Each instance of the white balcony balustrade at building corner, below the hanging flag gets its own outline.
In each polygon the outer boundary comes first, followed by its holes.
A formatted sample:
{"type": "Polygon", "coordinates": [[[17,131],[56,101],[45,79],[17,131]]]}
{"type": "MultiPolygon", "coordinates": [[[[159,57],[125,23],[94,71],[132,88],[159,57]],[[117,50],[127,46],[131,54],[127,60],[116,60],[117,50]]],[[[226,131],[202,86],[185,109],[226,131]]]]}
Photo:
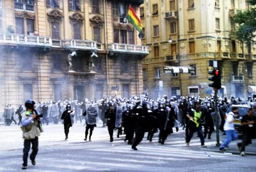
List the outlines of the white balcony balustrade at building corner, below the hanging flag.
{"type": "Polygon", "coordinates": [[[108,50],[114,52],[131,52],[139,54],[149,54],[148,47],[143,45],[131,45],[125,43],[109,43],[108,50]]]}

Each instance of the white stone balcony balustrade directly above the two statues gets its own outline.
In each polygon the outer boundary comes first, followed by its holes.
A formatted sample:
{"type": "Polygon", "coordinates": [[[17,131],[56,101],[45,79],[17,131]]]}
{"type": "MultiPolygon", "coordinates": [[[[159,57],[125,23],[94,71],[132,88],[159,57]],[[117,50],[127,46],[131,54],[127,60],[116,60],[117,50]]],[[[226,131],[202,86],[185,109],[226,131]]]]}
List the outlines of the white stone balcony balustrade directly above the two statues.
{"type": "Polygon", "coordinates": [[[62,47],[70,49],[97,50],[97,42],[90,40],[62,40],[62,47]]]}

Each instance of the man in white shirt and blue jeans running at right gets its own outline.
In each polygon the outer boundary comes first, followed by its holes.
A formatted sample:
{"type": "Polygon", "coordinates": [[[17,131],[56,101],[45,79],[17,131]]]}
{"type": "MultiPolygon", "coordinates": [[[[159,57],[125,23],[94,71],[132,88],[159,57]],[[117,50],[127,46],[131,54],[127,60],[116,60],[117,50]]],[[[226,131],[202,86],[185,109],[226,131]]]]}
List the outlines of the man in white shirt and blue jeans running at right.
{"type": "Polygon", "coordinates": [[[226,134],[226,139],[223,141],[223,143],[220,145],[220,150],[225,151],[228,144],[231,141],[234,141],[237,139],[236,130],[234,128],[234,121],[236,119],[236,116],[238,114],[238,107],[232,107],[232,111],[227,114],[227,118],[224,124],[224,130],[226,134]]]}

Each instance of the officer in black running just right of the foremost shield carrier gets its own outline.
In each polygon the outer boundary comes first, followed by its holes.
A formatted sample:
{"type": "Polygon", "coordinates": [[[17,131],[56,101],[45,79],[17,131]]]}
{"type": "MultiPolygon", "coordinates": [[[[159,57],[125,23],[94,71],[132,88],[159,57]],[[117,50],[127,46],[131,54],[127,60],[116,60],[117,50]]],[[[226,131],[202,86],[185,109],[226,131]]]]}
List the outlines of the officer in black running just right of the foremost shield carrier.
{"type": "Polygon", "coordinates": [[[112,103],[109,103],[109,109],[105,113],[105,118],[107,119],[110,142],[113,142],[113,132],[115,129],[115,121],[116,121],[116,109],[112,103]]]}

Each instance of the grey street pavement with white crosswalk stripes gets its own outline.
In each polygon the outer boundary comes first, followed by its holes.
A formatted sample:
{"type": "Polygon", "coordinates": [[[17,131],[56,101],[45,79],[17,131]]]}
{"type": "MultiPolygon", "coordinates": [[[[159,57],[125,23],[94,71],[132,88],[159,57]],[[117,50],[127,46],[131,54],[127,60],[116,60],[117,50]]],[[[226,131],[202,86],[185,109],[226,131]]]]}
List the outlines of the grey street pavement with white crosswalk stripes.
{"type": "MultiPolygon", "coordinates": [[[[184,130],[174,132],[165,145],[157,143],[155,134],[152,143],[143,139],[138,151],[124,142],[124,136],[109,142],[108,129],[98,124],[92,141],[84,141],[84,125],[75,123],[65,141],[63,125],[44,125],[39,137],[39,152],[36,166],[29,162],[25,171],[256,171],[256,143],[246,146],[246,156],[238,154],[232,141],[226,152],[215,146],[216,136],[205,139],[207,148],[200,147],[195,136],[189,147],[185,145],[184,130]]],[[[115,134],[116,135],[116,134],[115,134]]],[[[24,171],[22,164],[22,131],[17,125],[0,125],[0,171],[24,171]]],[[[147,135],[145,135],[146,138],[147,135]]],[[[220,140],[224,139],[220,133],[220,140]]]]}

